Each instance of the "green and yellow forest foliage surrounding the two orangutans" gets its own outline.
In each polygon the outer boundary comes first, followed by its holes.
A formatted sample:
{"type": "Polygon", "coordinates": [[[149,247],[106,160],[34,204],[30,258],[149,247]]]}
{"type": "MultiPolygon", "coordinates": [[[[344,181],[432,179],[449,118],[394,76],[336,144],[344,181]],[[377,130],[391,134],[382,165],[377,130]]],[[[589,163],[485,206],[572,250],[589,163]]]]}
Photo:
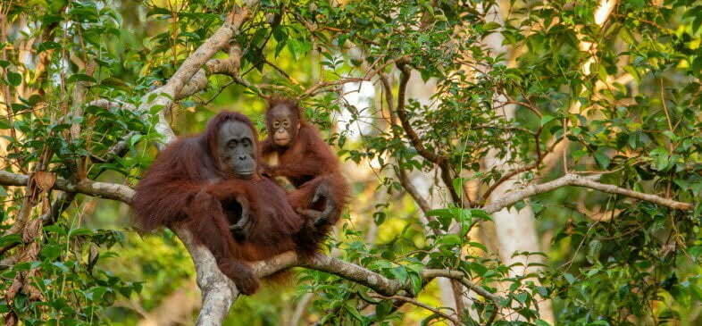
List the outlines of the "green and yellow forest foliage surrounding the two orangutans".
{"type": "MultiPolygon", "coordinates": [[[[153,113],[87,103],[138,104],[232,5],[3,0],[4,170],[136,184],[156,155],[153,113]],[[122,139],[128,146],[115,155],[122,139]]],[[[415,281],[423,267],[465,272],[503,297],[495,322],[495,306],[470,297],[465,324],[698,325],[700,25],[702,3],[689,0],[266,0],[235,39],[247,84],[210,76],[205,91],[166,114],[179,135],[203,130],[222,110],[246,113],[263,131],[259,92],[302,97],[305,116],[338,149],[354,191],[327,252],[414,282],[426,305],[455,308],[455,291],[415,281]],[[397,118],[403,67],[414,73],[406,76],[405,118],[397,118]],[[380,71],[389,88],[378,78],[359,82],[369,71],[380,71]],[[339,79],[359,80],[324,84],[339,79]],[[397,119],[409,121],[446,165],[422,157],[397,119]],[[513,214],[534,219],[507,220],[515,224],[509,238],[536,237],[538,246],[518,247],[527,258],[510,263],[508,241],[498,236],[504,225],[469,208],[506,196],[497,186],[521,166],[529,168],[514,173],[511,187],[574,171],[695,208],[558,188],[514,205],[513,214]],[[408,187],[431,211],[422,212],[408,187]],[[433,231],[451,225],[461,231],[433,231]]],[[[193,263],[170,230],[138,235],[129,207],[109,200],[0,192],[6,323],[194,322],[193,263]],[[12,232],[28,203],[36,207],[26,225],[43,224],[29,239],[12,232]],[[21,290],[18,278],[27,280],[21,290]]],[[[414,305],[396,311],[367,291],[299,270],[295,280],[239,298],[225,324],[446,322],[414,305]]]]}

